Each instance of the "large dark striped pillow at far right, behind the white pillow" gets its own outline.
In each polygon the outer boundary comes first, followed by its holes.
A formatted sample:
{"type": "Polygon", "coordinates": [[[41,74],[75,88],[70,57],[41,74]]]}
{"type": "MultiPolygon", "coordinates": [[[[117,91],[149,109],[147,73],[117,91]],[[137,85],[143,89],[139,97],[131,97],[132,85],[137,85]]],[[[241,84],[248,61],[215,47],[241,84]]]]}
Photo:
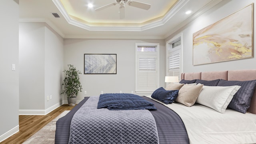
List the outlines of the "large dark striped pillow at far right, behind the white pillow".
{"type": "Polygon", "coordinates": [[[256,86],[256,80],[248,81],[228,81],[220,80],[218,86],[234,86],[238,85],[241,88],[236,92],[231,102],[228,104],[228,108],[232,108],[238,112],[246,113],[250,106],[251,98],[256,86]]]}

